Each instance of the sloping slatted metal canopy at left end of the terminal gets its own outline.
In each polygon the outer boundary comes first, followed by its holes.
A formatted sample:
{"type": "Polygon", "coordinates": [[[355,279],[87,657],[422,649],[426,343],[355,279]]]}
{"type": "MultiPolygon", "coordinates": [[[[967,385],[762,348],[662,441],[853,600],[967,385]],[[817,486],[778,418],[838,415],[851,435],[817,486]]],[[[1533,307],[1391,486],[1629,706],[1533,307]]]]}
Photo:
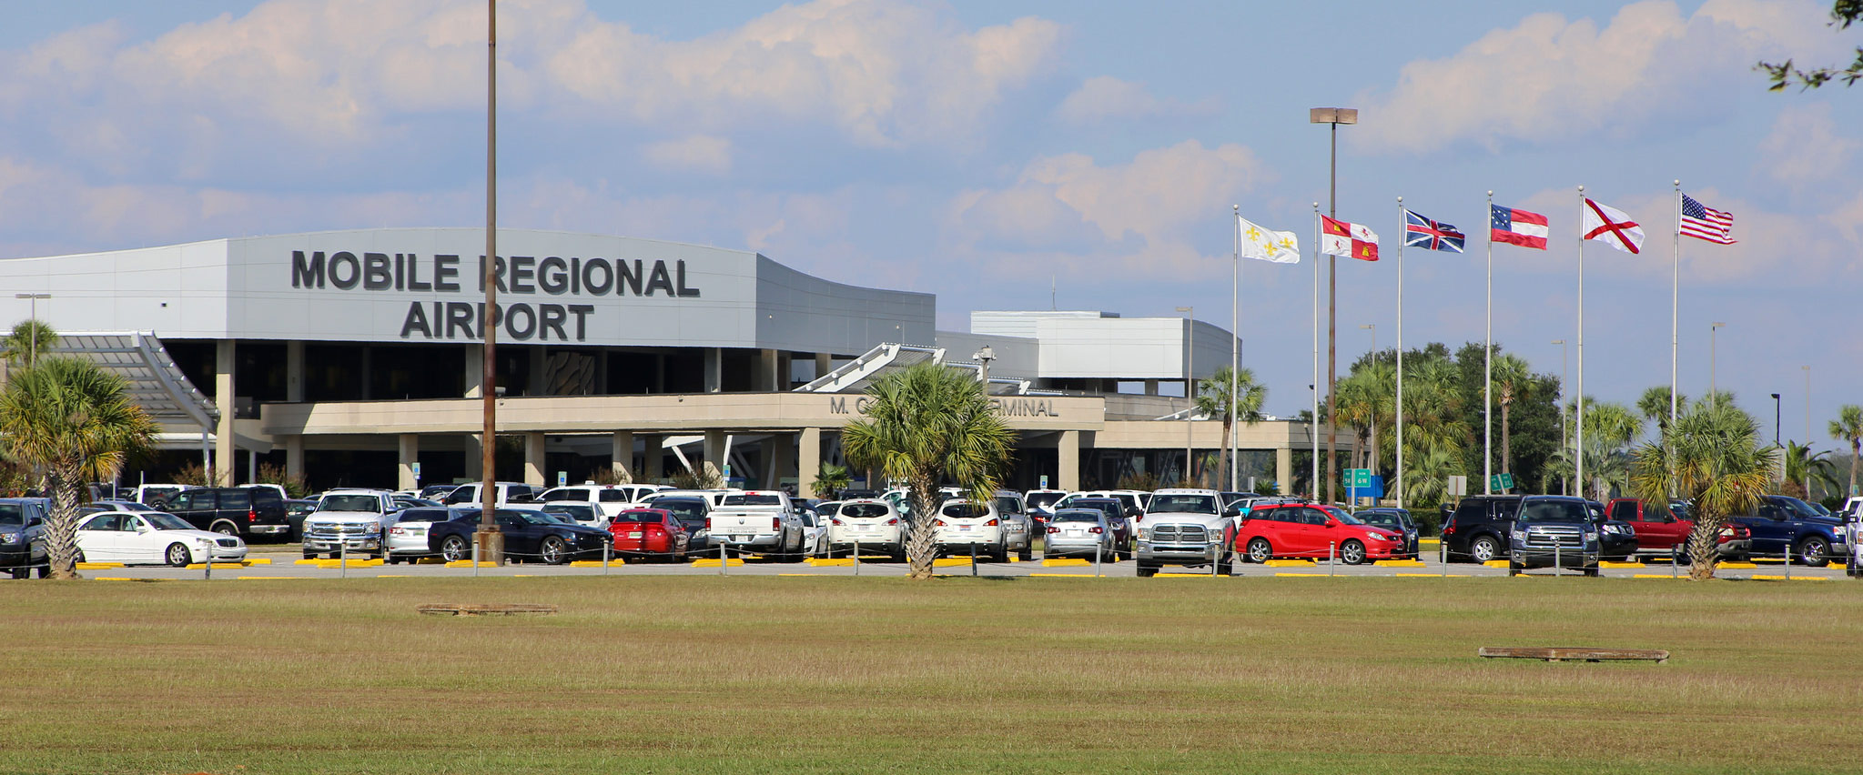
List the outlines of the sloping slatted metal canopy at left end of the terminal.
{"type": "Polygon", "coordinates": [[[212,432],[220,421],[220,408],[188,382],[153,332],[60,333],[45,352],[88,360],[123,378],[130,399],[156,423],[212,432]]]}

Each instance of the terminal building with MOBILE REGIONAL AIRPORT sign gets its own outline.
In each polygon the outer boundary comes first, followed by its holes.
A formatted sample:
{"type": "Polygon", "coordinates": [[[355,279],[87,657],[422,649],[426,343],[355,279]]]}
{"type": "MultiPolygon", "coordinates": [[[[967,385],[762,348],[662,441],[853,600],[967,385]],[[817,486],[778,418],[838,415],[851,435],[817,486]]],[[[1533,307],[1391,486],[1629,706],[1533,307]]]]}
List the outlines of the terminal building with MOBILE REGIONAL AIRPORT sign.
{"type": "MultiPolygon", "coordinates": [[[[1176,481],[1222,423],[1161,384],[1207,378],[1231,333],[1177,317],[976,311],[935,330],[932,294],[844,285],[755,252],[499,229],[499,479],[635,479],[715,466],[809,492],[838,428],[891,369],[939,361],[989,380],[1019,434],[1010,486],[1176,481]],[[978,361],[976,354],[993,354],[978,361]],[[1122,391],[1122,388],[1125,391],[1122,391]]],[[[34,311],[54,352],[123,374],[160,423],[160,481],[268,462],[313,488],[477,479],[484,229],[354,229],[0,261],[6,320],[34,311]],[[34,298],[37,296],[37,298],[34,298]]],[[[1237,428],[1243,477],[1287,492],[1299,421],[1237,428]]],[[[1215,466],[1209,466],[1211,469],[1215,466]]],[[[863,471],[855,471],[859,479],[863,471]]],[[[1211,471],[1213,473],[1213,471],[1211,471]]]]}

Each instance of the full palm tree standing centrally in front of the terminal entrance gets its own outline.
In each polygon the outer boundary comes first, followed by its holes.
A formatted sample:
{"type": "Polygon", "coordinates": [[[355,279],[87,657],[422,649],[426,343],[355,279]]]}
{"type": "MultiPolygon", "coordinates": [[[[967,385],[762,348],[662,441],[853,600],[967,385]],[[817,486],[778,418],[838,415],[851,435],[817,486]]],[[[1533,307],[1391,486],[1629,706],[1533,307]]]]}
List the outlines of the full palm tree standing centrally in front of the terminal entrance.
{"type": "Polygon", "coordinates": [[[932,514],[937,484],[950,479],[978,499],[997,488],[1010,466],[1015,434],[989,408],[974,376],[939,363],[917,363],[866,388],[864,419],[842,430],[842,449],[855,466],[905,481],[913,529],[905,540],[911,578],[932,578],[932,514]]]}

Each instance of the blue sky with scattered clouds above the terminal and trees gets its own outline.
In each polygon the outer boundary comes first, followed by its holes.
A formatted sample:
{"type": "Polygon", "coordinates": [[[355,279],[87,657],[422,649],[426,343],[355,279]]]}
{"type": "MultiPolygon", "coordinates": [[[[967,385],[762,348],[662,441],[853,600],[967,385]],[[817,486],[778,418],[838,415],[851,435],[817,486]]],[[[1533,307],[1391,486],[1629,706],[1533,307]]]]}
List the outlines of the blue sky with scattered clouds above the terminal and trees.
{"type": "MultiPolygon", "coordinates": [[[[63,2],[0,30],[0,255],[483,220],[479,0],[63,2]]],[[[1485,192],[1552,218],[1500,246],[1496,341],[1576,343],[1574,186],[1645,224],[1585,252],[1585,388],[1667,382],[1673,179],[1733,211],[1684,240],[1682,391],[1718,384],[1803,438],[1859,402],[1863,93],[1764,91],[1762,58],[1848,61],[1815,2],[501,4],[501,225],[753,248],[971,309],[1228,326],[1230,205],[1310,240],[1326,130],[1339,216],[1386,261],[1339,266],[1339,360],[1395,341],[1395,197],[1470,253],[1407,253],[1405,339],[1481,339],[1485,192]],[[1852,129],[1846,129],[1852,127],[1852,129]]],[[[1312,266],[1244,266],[1246,365],[1306,404],[1312,266]]],[[[1576,348],[1572,374],[1576,376],[1576,348]]]]}

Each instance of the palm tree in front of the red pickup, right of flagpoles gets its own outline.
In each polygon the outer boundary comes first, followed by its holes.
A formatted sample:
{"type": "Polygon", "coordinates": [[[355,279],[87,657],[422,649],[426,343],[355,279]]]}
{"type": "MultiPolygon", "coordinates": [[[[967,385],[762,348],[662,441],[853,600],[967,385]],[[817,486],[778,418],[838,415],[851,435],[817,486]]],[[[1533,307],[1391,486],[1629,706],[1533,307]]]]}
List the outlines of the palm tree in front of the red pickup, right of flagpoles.
{"type": "Polygon", "coordinates": [[[1733,402],[1701,401],[1677,417],[1666,438],[1636,451],[1630,488],[1645,501],[1671,492],[1695,505],[1688,537],[1692,579],[1712,579],[1716,544],[1727,514],[1755,507],[1772,483],[1779,447],[1761,445],[1759,423],[1733,402]]]}

